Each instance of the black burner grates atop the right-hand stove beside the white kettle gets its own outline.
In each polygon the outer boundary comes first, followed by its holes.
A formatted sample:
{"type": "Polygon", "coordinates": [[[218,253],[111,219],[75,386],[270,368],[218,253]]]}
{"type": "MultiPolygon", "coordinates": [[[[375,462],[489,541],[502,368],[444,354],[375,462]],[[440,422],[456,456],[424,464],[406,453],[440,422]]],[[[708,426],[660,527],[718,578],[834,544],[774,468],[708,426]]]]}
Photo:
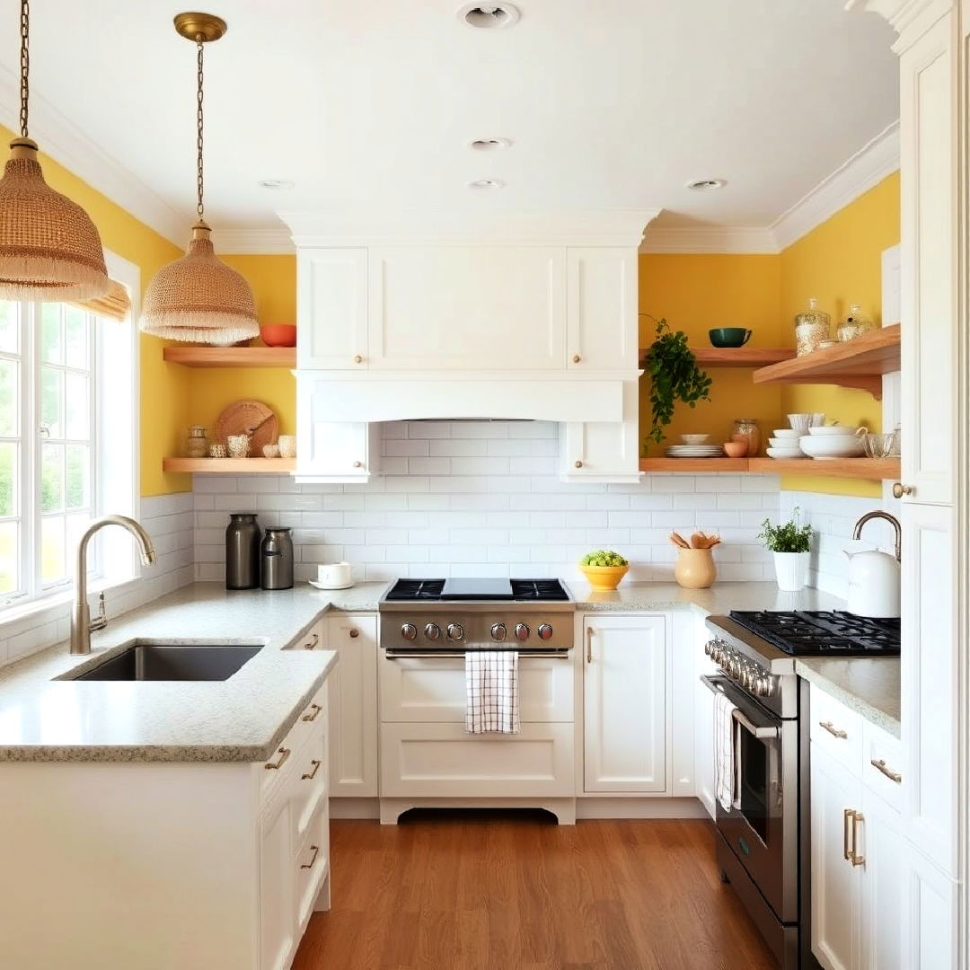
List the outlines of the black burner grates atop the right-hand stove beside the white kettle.
{"type": "Polygon", "coordinates": [[[731,610],[737,624],[792,656],[894,657],[899,621],[855,616],[842,610],[771,612],[731,610]]]}

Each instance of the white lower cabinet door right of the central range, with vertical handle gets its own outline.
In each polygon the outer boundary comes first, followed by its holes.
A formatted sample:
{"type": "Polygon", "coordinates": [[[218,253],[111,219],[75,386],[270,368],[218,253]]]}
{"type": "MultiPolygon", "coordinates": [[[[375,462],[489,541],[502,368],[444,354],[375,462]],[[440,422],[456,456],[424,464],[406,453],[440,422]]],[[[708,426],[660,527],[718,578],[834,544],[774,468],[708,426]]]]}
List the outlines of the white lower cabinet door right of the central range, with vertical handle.
{"type": "Polygon", "coordinates": [[[664,792],[667,620],[584,617],[584,790],[664,792]]]}

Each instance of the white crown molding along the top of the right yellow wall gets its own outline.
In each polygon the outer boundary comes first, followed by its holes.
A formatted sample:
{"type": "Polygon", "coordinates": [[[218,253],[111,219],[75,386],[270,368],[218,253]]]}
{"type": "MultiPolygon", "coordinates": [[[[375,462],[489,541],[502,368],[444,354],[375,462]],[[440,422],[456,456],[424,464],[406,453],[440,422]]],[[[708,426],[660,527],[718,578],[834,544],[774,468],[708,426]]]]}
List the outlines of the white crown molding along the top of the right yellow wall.
{"type": "Polygon", "coordinates": [[[899,169],[899,122],[893,121],[845,164],[768,227],[777,250],[787,248],[899,169]]]}

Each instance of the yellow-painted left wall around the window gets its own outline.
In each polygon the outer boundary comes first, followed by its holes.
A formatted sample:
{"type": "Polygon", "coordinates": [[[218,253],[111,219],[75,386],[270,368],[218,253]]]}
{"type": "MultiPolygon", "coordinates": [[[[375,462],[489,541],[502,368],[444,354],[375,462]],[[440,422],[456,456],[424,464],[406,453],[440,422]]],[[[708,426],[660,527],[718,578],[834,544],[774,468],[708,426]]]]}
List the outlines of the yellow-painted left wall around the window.
{"type": "MultiPolygon", "coordinates": [[[[0,126],[0,138],[5,143],[13,137],[10,129],[0,126]]],[[[41,165],[50,187],[74,200],[91,217],[102,244],[139,267],[143,293],[152,275],[181,255],[178,246],[43,152],[41,165]]],[[[190,214],[186,212],[186,238],[190,214]]],[[[188,423],[188,377],[162,361],[161,340],[143,334],[140,349],[142,495],[181,492],[191,487],[188,475],[163,474],[162,456],[178,454],[178,438],[184,435],[188,423]]]]}

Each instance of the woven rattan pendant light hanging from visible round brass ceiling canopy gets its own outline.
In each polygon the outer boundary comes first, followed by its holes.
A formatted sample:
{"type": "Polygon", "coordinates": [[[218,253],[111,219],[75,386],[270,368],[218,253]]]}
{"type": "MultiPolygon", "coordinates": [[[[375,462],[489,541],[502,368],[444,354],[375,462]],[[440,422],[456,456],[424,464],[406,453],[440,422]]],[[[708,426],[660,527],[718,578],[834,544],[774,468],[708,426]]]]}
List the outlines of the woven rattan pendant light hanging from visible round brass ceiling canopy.
{"type": "Polygon", "coordinates": [[[203,51],[226,32],[226,22],[211,14],[179,14],[178,34],[196,46],[196,211],[188,250],[162,267],[148,284],[141,329],[146,334],[190,343],[229,344],[256,337],[256,303],[242,275],[226,266],[210,241],[203,218],[203,51]]]}

